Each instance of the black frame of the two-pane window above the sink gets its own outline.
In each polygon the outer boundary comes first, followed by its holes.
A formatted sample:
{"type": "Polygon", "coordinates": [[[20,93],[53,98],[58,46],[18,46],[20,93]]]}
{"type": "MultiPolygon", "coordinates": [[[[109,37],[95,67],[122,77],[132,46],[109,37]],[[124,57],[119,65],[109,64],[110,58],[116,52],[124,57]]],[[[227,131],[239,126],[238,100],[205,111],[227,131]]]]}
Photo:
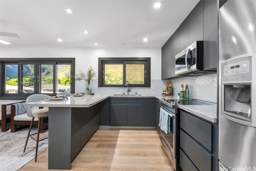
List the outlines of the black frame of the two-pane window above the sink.
{"type": "MultiPolygon", "coordinates": [[[[144,84],[129,84],[129,87],[150,87],[150,58],[99,58],[98,87],[126,87],[126,64],[144,64],[144,84]],[[104,82],[104,64],[123,64],[123,84],[106,85],[104,82]]],[[[129,80],[128,80],[129,81],[129,80]]]]}

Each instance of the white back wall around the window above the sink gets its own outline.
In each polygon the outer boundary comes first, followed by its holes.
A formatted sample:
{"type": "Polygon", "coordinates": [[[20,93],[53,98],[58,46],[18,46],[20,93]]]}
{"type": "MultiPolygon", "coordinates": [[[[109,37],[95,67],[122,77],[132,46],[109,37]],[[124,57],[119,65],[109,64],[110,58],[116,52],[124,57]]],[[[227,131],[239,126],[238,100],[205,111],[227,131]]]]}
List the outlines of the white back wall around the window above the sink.
{"type": "MultiPolygon", "coordinates": [[[[87,72],[92,68],[97,72],[96,78],[92,80],[93,92],[121,93],[124,88],[99,88],[98,89],[98,58],[104,57],[150,57],[151,58],[151,85],[156,85],[156,90],[150,88],[132,88],[132,92],[148,94],[160,94],[164,84],[161,81],[161,48],[5,48],[1,49],[1,58],[76,58],[76,73],[81,69],[87,72]]],[[[83,91],[85,83],[76,82],[75,91],[83,91]]]]}

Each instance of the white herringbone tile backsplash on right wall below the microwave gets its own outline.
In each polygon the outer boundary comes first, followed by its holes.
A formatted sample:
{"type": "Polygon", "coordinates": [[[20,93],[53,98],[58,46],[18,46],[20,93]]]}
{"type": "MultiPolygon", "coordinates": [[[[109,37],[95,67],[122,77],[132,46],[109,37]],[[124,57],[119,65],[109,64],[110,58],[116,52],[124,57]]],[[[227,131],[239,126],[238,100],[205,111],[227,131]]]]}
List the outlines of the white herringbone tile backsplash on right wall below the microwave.
{"type": "Polygon", "coordinates": [[[190,98],[217,103],[217,74],[177,78],[164,82],[172,82],[174,95],[182,90],[181,84],[184,84],[184,88],[188,84],[190,98]]]}

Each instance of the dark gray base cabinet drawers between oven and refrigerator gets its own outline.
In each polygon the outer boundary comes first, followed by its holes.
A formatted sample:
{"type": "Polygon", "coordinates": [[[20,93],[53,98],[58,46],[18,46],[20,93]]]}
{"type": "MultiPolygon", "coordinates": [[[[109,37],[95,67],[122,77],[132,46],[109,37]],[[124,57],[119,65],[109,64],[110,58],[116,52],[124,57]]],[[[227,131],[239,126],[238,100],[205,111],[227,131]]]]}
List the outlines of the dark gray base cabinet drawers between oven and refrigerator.
{"type": "Polygon", "coordinates": [[[183,171],[213,169],[213,124],[180,110],[180,167],[183,171]]]}

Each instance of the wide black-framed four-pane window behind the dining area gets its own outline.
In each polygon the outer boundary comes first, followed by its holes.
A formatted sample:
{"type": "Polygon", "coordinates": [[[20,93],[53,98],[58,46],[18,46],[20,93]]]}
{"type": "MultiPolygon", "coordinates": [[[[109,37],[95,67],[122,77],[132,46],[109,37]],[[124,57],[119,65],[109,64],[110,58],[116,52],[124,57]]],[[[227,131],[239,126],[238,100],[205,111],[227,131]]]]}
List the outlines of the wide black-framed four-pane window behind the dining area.
{"type": "Polygon", "coordinates": [[[74,93],[74,58],[2,58],[0,62],[1,97],[74,93]]]}

